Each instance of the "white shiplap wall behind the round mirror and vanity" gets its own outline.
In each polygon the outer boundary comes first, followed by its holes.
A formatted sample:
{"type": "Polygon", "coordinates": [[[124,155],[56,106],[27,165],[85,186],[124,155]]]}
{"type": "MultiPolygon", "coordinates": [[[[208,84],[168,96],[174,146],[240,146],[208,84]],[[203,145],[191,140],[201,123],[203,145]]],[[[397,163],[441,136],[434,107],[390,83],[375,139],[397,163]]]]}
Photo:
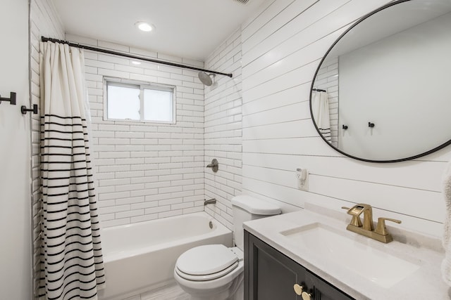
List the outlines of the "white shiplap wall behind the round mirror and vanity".
{"type": "Polygon", "coordinates": [[[309,115],[323,53],[352,22],[387,2],[267,1],[242,25],[242,193],[278,202],[283,211],[305,202],[337,211],[369,203],[375,218],[440,237],[440,178],[450,147],[409,162],[359,162],[326,145],[309,115]],[[299,167],[309,169],[308,192],[296,188],[299,167]]]}

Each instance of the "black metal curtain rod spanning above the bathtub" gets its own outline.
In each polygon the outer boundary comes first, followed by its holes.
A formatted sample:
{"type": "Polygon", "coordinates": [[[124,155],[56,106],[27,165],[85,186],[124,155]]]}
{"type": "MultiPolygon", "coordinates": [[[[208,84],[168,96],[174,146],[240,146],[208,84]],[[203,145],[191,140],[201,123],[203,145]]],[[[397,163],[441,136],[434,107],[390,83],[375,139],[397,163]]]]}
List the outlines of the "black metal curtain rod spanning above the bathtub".
{"type": "Polygon", "coordinates": [[[97,47],[92,47],[92,46],[84,46],[84,45],[80,45],[80,44],[75,44],[75,43],[71,43],[70,41],[63,41],[61,39],[52,39],[52,38],[49,38],[49,37],[41,37],[41,40],[42,41],[51,41],[53,43],[68,44],[69,46],[72,46],[72,47],[77,47],[77,48],[82,48],[82,49],[86,49],[86,50],[90,50],[90,51],[97,51],[97,52],[101,52],[101,53],[111,54],[113,56],[123,56],[123,57],[126,57],[126,58],[133,58],[133,59],[137,59],[137,60],[145,60],[145,61],[148,61],[150,63],[160,63],[162,65],[171,65],[172,67],[181,67],[183,69],[190,69],[190,70],[208,72],[208,73],[211,73],[211,74],[218,74],[218,75],[228,76],[230,78],[233,77],[233,75],[231,73],[221,73],[221,72],[201,69],[199,67],[191,67],[190,65],[180,65],[178,63],[171,63],[171,62],[168,62],[168,61],[165,61],[165,60],[156,60],[156,59],[153,59],[153,58],[144,58],[142,56],[134,56],[134,55],[128,54],[128,53],[116,52],[116,51],[111,51],[111,50],[97,48],[97,47]]]}

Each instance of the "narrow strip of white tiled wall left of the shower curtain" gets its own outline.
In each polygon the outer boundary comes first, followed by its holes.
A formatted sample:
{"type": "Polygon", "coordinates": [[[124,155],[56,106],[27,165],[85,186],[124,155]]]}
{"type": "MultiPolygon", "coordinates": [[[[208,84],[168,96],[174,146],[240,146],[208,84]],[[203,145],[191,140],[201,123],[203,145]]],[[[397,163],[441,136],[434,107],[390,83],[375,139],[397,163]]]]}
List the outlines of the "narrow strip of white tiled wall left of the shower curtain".
{"type": "MultiPolygon", "coordinates": [[[[41,36],[54,37],[56,39],[64,38],[64,29],[61,20],[54,8],[51,0],[32,0],[30,1],[30,97],[32,104],[39,105],[40,101],[40,83],[39,83],[39,41],[41,36]]],[[[39,110],[38,110],[39,112],[39,110]]],[[[32,214],[33,214],[33,291],[35,297],[39,288],[39,270],[41,240],[39,233],[41,230],[41,204],[39,202],[40,187],[40,126],[39,114],[32,115],[31,123],[32,140],[32,214]]]]}

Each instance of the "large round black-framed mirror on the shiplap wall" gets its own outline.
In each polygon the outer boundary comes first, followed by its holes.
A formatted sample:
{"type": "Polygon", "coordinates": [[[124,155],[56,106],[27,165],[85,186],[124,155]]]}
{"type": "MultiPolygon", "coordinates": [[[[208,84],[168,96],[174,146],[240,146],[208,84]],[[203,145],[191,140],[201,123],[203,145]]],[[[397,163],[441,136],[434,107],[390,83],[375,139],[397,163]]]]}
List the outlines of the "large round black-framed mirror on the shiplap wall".
{"type": "Polygon", "coordinates": [[[400,162],[451,143],[451,0],[394,1],[365,15],[316,70],[310,112],[328,145],[400,162]]]}

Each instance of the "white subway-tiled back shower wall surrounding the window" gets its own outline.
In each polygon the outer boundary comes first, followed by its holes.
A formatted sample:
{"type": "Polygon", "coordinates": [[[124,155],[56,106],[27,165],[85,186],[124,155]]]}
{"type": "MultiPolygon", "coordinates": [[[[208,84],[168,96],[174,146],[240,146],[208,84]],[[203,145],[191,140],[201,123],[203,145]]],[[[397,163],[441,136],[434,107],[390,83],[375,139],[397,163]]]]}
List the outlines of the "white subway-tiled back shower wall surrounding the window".
{"type": "MultiPolygon", "coordinates": [[[[204,67],[129,46],[66,34],[66,39],[114,51],[204,67]]],[[[85,51],[92,144],[101,226],[203,211],[204,85],[197,72],[85,51]],[[176,124],[104,119],[104,77],[175,86],[176,124]]]]}

